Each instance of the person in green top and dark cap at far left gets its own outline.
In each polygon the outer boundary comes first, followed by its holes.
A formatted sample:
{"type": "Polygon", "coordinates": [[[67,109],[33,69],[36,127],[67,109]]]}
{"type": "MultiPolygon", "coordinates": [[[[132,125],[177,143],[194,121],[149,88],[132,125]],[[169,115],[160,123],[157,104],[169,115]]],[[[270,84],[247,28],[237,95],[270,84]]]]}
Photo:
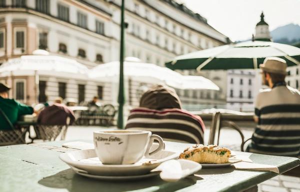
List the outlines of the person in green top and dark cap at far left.
{"type": "MultiPolygon", "coordinates": [[[[7,85],[0,83],[0,108],[13,125],[20,116],[32,114],[33,108],[21,104],[14,99],[8,99],[9,89],[10,87],[7,85]]],[[[0,130],[7,129],[10,129],[10,127],[4,117],[0,114],[0,130]]]]}

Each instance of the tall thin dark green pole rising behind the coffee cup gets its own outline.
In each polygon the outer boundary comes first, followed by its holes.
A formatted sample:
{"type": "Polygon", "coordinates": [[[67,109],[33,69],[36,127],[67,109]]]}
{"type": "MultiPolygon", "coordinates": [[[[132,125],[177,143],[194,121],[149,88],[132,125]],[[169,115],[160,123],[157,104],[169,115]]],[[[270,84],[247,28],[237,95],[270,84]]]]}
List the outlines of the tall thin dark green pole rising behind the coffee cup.
{"type": "Polygon", "coordinates": [[[123,121],[123,106],[124,98],[124,76],[123,76],[123,62],[124,62],[124,0],[121,4],[121,35],[120,35],[120,75],[119,75],[119,93],[118,93],[118,114],[117,114],[117,128],[124,128],[123,121]]]}

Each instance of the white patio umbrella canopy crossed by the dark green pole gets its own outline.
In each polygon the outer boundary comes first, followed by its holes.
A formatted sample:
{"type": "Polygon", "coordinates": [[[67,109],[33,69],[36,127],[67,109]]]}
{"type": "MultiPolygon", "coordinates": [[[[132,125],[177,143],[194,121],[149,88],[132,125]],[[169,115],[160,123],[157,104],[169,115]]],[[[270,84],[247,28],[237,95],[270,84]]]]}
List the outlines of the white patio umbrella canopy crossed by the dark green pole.
{"type": "MultiPolygon", "coordinates": [[[[102,81],[118,81],[119,61],[100,64],[90,70],[89,78],[102,81]]],[[[209,79],[201,76],[184,76],[166,67],[152,63],[142,63],[138,58],[126,57],[124,76],[136,78],[149,83],[164,83],[177,89],[211,89],[219,90],[209,79]]]]}

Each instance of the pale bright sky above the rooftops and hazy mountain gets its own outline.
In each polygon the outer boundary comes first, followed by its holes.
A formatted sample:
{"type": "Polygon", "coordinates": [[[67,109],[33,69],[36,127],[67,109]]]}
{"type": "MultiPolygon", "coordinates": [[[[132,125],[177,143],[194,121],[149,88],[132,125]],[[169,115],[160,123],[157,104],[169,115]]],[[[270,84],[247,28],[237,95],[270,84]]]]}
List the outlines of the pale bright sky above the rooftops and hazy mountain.
{"type": "Polygon", "coordinates": [[[255,34],[263,11],[270,31],[285,24],[300,25],[300,0],[178,0],[207,19],[208,24],[231,41],[255,34]]]}

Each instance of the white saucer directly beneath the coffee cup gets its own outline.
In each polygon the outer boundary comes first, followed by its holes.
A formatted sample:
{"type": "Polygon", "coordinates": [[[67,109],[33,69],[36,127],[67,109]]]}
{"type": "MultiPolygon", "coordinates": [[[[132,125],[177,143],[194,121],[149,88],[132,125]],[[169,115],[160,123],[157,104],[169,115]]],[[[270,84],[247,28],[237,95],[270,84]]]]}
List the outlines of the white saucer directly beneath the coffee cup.
{"type": "Polygon", "coordinates": [[[87,172],[93,176],[141,176],[155,169],[162,162],[178,159],[179,153],[161,150],[150,156],[151,159],[143,158],[135,164],[130,165],[103,165],[96,156],[95,150],[79,150],[59,155],[61,161],[71,168],[87,172]]]}

